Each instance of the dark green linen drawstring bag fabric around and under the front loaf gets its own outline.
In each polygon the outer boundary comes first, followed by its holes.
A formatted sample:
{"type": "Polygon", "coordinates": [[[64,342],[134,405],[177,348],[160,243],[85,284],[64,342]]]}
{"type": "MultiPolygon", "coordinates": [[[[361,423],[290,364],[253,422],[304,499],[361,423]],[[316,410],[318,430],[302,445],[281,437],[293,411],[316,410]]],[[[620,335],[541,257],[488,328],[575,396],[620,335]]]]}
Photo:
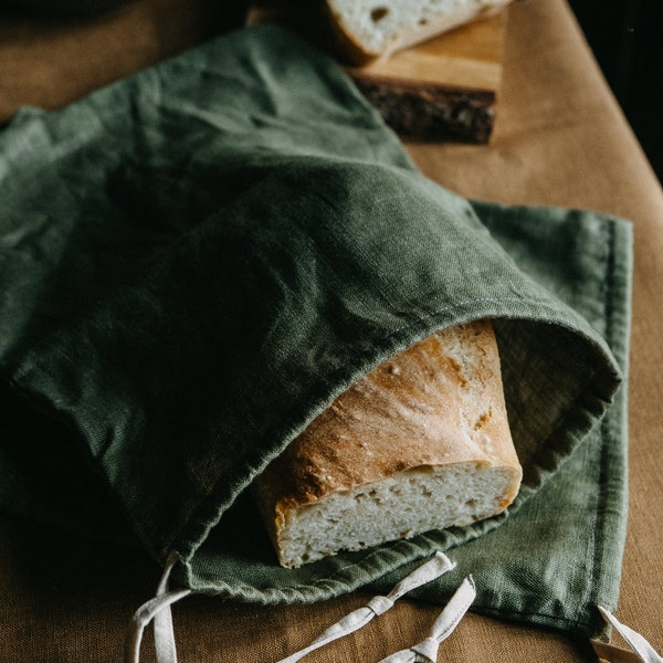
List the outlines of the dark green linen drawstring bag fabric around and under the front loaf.
{"type": "Polygon", "coordinates": [[[380,587],[444,549],[477,610],[600,630],[625,523],[627,222],[443,189],[274,27],[22,110],[0,200],[6,511],[108,538],[122,512],[180,582],[262,603],[380,587]],[[524,466],[508,513],[280,568],[252,478],[352,380],[486,317],[524,466]],[[54,432],[34,441],[30,411],[54,432]]]}

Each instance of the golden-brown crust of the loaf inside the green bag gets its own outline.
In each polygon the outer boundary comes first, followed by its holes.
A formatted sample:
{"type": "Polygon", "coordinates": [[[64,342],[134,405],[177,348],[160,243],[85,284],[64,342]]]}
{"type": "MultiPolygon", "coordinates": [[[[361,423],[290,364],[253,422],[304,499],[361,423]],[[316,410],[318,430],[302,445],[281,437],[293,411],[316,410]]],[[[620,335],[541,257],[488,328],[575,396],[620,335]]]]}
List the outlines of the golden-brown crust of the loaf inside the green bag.
{"type": "Polygon", "coordinates": [[[413,469],[522,469],[504,402],[497,343],[487,320],[439,332],[357,380],[254,483],[278,551],[290,516],[328,495],[413,469]]]}

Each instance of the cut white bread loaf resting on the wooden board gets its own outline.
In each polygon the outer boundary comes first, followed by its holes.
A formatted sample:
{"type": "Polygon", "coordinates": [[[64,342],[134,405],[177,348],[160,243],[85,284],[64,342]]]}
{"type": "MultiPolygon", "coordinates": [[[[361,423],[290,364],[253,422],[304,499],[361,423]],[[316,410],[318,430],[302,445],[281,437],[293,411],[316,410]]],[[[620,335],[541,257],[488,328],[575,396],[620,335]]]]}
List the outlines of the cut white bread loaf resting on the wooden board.
{"type": "Polygon", "coordinates": [[[495,14],[511,0],[326,0],[344,55],[355,64],[388,57],[459,25],[495,14]]]}

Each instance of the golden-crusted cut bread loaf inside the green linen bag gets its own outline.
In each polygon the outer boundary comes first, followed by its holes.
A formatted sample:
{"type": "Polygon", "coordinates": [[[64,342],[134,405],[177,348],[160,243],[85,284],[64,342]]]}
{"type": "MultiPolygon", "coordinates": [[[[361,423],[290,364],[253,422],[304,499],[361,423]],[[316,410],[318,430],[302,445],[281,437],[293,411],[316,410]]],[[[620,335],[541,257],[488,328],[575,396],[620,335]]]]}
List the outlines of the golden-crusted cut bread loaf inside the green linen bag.
{"type": "Polygon", "coordinates": [[[490,322],[433,334],[319,414],[254,482],[283,566],[493,516],[518,492],[490,322]]]}

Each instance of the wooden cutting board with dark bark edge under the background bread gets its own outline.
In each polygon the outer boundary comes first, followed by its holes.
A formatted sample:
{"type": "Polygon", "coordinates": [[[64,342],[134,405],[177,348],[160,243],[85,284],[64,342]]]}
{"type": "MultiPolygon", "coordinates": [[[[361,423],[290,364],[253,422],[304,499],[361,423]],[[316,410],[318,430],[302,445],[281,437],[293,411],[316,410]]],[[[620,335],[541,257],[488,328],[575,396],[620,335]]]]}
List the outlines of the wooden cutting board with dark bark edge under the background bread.
{"type": "MultiPolygon", "coordinates": [[[[264,7],[249,22],[275,20],[329,49],[314,2],[303,11],[264,7]]],[[[292,3],[290,3],[292,7],[292,3]]],[[[487,143],[496,119],[507,11],[401,51],[383,62],[347,66],[387,124],[419,140],[487,143]]]]}

